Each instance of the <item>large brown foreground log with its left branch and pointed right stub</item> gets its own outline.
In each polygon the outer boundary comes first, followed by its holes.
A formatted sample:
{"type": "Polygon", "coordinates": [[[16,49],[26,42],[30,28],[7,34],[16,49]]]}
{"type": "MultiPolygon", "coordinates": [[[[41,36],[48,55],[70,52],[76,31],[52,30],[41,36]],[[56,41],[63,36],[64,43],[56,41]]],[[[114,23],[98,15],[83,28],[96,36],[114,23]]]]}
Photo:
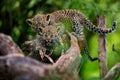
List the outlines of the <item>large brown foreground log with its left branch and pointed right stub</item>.
{"type": "Polygon", "coordinates": [[[76,37],[54,64],[25,57],[14,41],[0,34],[0,80],[79,80],[81,55],[76,37]]]}

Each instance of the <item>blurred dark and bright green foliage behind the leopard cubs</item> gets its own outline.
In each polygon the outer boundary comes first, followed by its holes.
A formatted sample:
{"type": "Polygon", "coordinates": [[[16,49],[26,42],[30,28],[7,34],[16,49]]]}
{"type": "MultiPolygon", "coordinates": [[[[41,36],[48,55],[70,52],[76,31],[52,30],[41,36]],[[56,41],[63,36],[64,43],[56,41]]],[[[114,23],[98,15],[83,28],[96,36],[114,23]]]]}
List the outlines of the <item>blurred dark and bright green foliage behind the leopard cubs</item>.
{"type": "MultiPolygon", "coordinates": [[[[106,16],[107,27],[118,22],[114,33],[107,35],[108,68],[120,62],[120,53],[112,51],[115,44],[120,49],[120,0],[0,0],[0,32],[12,36],[21,47],[24,41],[35,38],[36,32],[26,23],[36,13],[50,13],[62,9],[77,9],[95,25],[96,16],[106,16]]],[[[89,52],[98,56],[98,36],[85,29],[89,52]]],[[[99,80],[98,61],[91,62],[82,53],[79,75],[81,80],[99,80]]]]}

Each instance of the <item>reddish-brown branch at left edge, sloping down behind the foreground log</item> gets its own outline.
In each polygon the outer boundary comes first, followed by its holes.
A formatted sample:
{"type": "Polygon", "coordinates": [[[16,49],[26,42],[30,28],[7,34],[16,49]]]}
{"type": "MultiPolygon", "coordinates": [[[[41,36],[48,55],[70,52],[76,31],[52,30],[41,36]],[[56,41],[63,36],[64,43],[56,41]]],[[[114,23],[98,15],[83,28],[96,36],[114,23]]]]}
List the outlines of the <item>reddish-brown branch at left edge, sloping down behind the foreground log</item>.
{"type": "Polygon", "coordinates": [[[20,48],[13,42],[12,38],[0,33],[0,55],[17,54],[23,56],[20,48]]]}

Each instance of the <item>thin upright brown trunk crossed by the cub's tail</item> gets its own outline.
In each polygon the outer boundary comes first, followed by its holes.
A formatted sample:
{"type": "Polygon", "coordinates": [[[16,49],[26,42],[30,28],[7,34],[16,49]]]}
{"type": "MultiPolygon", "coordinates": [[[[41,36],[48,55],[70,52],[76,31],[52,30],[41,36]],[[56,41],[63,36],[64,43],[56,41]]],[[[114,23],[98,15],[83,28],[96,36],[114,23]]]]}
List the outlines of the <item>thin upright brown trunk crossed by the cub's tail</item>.
{"type": "MultiPolygon", "coordinates": [[[[105,28],[106,21],[104,16],[99,16],[98,18],[98,27],[105,28]]],[[[103,79],[108,71],[107,67],[107,54],[106,54],[106,38],[105,35],[98,35],[98,58],[99,58],[99,67],[100,67],[100,79],[103,79]]]]}

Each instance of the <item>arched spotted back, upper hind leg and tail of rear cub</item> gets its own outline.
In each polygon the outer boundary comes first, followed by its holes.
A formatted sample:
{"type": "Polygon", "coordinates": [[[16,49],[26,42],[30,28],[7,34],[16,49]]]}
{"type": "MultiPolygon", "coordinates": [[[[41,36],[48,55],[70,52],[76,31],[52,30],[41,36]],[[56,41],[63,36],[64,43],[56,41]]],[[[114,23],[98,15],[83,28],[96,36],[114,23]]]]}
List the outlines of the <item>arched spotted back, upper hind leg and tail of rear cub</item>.
{"type": "Polygon", "coordinates": [[[75,27],[75,32],[79,31],[79,34],[83,34],[83,26],[85,26],[88,30],[97,32],[99,34],[108,34],[116,29],[117,24],[117,22],[114,21],[112,28],[109,29],[96,27],[82,13],[77,10],[60,10],[51,14],[55,16],[56,21],[61,21],[62,19],[66,18],[70,19],[73,22],[73,27],[75,27]]]}

